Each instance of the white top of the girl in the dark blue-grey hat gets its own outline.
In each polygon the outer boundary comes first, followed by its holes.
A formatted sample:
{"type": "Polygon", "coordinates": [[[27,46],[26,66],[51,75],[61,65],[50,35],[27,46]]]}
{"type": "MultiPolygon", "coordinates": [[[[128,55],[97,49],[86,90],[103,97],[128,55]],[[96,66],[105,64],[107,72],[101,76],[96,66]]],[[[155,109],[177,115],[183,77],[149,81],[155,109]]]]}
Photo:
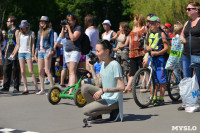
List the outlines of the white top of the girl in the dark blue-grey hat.
{"type": "Polygon", "coordinates": [[[31,53],[29,46],[28,46],[28,34],[20,35],[20,47],[19,47],[19,53],[31,53]]]}

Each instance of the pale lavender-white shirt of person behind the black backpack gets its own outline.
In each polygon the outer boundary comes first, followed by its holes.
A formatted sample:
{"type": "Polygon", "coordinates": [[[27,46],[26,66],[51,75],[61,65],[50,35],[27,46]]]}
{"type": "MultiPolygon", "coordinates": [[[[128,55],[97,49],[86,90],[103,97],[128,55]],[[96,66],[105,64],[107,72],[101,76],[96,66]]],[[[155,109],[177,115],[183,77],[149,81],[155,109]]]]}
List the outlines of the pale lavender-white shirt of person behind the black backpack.
{"type": "Polygon", "coordinates": [[[90,39],[92,51],[95,51],[97,41],[99,40],[99,30],[98,29],[86,29],[85,34],[90,39]]]}

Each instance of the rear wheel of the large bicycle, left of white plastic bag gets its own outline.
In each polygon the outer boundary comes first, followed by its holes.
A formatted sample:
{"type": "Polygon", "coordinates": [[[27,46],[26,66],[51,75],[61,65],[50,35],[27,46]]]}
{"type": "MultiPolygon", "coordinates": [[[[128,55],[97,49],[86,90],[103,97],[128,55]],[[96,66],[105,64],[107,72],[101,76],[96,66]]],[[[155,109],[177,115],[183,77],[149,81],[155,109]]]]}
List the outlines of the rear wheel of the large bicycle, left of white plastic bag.
{"type": "Polygon", "coordinates": [[[169,97],[173,101],[178,101],[178,99],[180,98],[180,89],[178,85],[181,79],[183,79],[182,71],[176,70],[176,72],[170,71],[168,73],[167,91],[169,97]]]}

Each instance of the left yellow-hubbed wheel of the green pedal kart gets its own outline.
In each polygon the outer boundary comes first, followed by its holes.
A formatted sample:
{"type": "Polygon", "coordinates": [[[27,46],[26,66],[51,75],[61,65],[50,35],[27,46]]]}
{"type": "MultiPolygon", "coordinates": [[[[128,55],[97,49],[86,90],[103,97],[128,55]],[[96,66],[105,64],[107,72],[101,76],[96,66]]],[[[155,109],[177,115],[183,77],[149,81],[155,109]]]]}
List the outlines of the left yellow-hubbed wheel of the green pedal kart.
{"type": "Polygon", "coordinates": [[[48,100],[51,104],[55,105],[60,102],[61,98],[59,98],[59,94],[61,93],[61,90],[59,87],[54,86],[52,87],[48,92],[48,100]]]}

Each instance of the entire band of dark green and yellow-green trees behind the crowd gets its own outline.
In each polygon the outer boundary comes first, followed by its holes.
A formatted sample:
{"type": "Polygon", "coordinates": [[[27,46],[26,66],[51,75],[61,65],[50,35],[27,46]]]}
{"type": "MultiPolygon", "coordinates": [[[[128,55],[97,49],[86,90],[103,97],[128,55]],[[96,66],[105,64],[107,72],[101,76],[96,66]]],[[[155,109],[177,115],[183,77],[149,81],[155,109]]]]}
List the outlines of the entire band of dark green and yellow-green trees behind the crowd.
{"type": "MultiPolygon", "coordinates": [[[[200,0],[197,0],[200,2],[200,0]]],[[[126,21],[133,25],[135,14],[154,13],[160,17],[162,23],[188,20],[185,11],[189,0],[0,0],[0,22],[6,29],[8,16],[15,15],[18,24],[22,19],[31,23],[31,29],[38,30],[41,16],[48,16],[53,23],[54,30],[60,32],[60,21],[67,14],[77,15],[81,26],[84,26],[86,14],[92,14],[96,26],[103,32],[101,23],[109,19],[112,29],[118,30],[119,22],[126,21]],[[4,19],[2,20],[4,16],[4,19]]]]}

